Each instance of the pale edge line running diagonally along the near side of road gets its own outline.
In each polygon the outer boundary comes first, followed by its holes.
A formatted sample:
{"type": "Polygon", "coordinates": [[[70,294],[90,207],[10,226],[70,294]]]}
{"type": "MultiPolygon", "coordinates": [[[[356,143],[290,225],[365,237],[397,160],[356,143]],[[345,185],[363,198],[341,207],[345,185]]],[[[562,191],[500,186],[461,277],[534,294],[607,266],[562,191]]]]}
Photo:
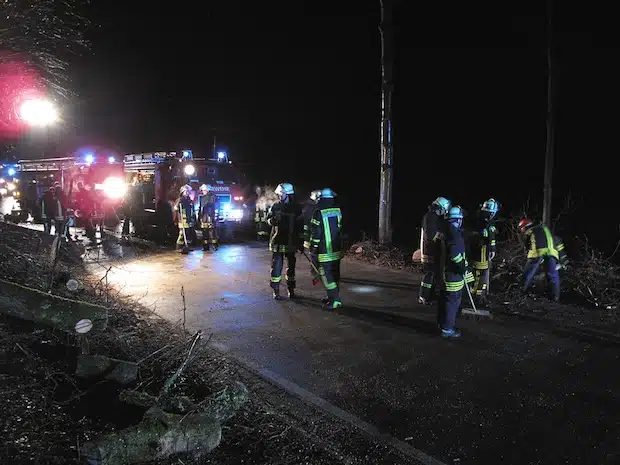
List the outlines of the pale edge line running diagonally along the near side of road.
{"type": "Polygon", "coordinates": [[[302,388],[301,386],[293,383],[292,381],[289,381],[288,379],[283,378],[282,376],[274,373],[273,371],[268,370],[266,368],[261,368],[260,365],[258,365],[256,362],[252,360],[248,360],[237,354],[234,354],[232,350],[230,349],[230,347],[224,344],[221,344],[219,342],[210,342],[209,345],[213,347],[214,349],[217,349],[221,352],[225,352],[226,354],[234,358],[236,361],[241,363],[243,366],[245,366],[247,369],[256,373],[260,377],[266,379],[270,383],[284,389],[290,394],[293,394],[301,398],[303,401],[309,404],[312,404],[315,407],[318,407],[321,410],[340,418],[341,420],[346,421],[350,425],[362,430],[363,432],[365,432],[372,438],[376,439],[377,441],[383,443],[384,445],[392,447],[398,450],[399,452],[401,452],[402,454],[406,455],[407,457],[417,460],[420,464],[422,465],[447,465],[446,463],[441,462],[440,460],[437,460],[434,457],[431,457],[430,455],[422,452],[421,450],[416,449],[415,447],[410,446],[409,444],[399,439],[396,439],[395,437],[390,436],[389,434],[382,433],[381,431],[377,429],[377,427],[371,425],[370,423],[362,420],[361,418],[345,410],[342,410],[339,407],[336,407],[334,404],[331,404],[325,399],[317,396],[316,394],[313,394],[312,392],[308,391],[307,389],[302,388]]]}

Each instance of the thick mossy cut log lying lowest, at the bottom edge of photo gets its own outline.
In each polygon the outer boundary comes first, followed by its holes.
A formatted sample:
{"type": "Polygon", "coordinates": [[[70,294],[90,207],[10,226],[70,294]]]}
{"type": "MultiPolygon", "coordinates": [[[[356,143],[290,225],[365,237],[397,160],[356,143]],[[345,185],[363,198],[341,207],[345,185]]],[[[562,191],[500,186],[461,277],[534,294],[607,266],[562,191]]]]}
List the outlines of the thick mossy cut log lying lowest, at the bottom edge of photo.
{"type": "Polygon", "coordinates": [[[81,454],[89,465],[131,465],[177,454],[199,459],[221,439],[222,428],[209,415],[176,415],[153,407],[140,424],[86,443],[81,454]]]}

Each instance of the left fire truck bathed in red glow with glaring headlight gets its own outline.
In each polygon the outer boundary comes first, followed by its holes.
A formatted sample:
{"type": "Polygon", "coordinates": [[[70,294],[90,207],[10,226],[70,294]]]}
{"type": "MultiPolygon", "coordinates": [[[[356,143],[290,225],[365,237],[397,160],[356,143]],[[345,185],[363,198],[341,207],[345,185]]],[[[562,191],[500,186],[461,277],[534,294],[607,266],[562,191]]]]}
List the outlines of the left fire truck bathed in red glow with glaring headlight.
{"type": "Polygon", "coordinates": [[[95,201],[95,215],[102,220],[116,220],[116,212],[123,203],[127,186],[123,164],[114,157],[97,157],[93,154],[62,158],[20,160],[17,163],[20,179],[22,216],[30,213],[35,219],[40,215],[37,200],[43,191],[55,183],[60,184],[69,202],[74,203],[78,183],[90,190],[95,201]]]}

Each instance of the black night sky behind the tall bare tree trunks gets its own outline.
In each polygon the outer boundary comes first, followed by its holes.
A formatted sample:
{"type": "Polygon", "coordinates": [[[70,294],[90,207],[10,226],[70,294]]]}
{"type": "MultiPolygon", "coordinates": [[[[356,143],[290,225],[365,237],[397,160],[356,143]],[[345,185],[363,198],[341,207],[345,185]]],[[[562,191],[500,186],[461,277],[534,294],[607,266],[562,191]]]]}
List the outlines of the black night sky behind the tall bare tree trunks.
{"type": "MultiPolygon", "coordinates": [[[[217,128],[256,182],[329,185],[350,232],[374,234],[378,0],[94,3],[92,55],[74,68],[76,134],[200,152],[217,128]]],[[[540,203],[546,7],[504,3],[397,2],[397,240],[438,195],[470,209],[489,196],[506,210],[540,203]]],[[[616,176],[616,26],[594,3],[555,3],[556,202],[570,190],[603,214],[617,210],[599,200],[616,176]]]]}

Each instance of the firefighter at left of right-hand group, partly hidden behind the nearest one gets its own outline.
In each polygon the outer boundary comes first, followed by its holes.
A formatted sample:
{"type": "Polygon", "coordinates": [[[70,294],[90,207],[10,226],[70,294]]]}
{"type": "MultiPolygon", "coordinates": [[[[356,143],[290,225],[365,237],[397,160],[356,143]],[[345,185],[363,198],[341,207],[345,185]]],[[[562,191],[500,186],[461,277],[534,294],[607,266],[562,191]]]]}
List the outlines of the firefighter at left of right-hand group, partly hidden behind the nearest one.
{"type": "Polygon", "coordinates": [[[437,234],[445,229],[444,216],[450,209],[451,202],[445,197],[437,197],[428,206],[428,212],[422,218],[422,232],[420,234],[420,253],[424,271],[420,283],[418,301],[429,304],[434,297],[435,277],[437,274],[437,259],[439,255],[438,242],[434,241],[437,234]]]}

